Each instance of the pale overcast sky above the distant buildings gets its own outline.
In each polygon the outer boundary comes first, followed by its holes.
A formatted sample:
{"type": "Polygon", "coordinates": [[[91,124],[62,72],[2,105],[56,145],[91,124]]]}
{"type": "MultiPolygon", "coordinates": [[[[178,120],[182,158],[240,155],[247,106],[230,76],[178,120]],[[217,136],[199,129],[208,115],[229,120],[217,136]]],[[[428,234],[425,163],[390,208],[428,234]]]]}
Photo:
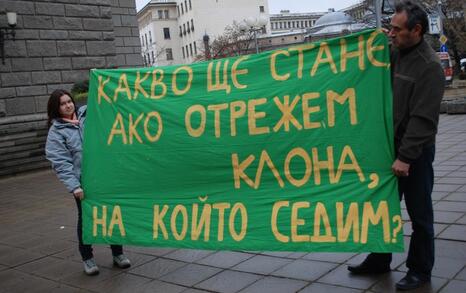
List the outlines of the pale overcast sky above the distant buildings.
{"type": "MultiPolygon", "coordinates": [[[[150,0],[136,0],[139,11],[150,0]]],[[[329,8],[339,10],[360,2],[359,0],[268,0],[269,12],[280,13],[280,10],[290,12],[325,12],[329,8]]]]}

